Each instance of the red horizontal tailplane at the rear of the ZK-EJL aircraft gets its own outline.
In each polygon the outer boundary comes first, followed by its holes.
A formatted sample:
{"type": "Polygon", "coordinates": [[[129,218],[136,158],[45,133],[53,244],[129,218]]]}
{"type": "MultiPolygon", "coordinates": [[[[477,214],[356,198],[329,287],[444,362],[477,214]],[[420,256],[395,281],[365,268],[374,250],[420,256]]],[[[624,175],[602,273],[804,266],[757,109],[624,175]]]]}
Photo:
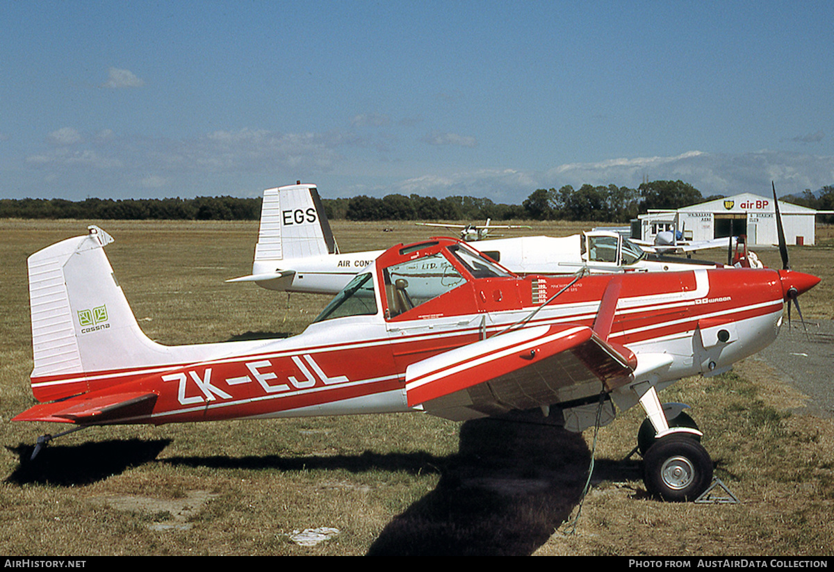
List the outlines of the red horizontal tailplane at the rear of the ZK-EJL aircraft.
{"type": "Polygon", "coordinates": [[[101,424],[108,420],[150,414],[156,399],[157,394],[150,392],[104,394],[98,397],[80,395],[50,404],[35,405],[12,420],[101,424]]]}

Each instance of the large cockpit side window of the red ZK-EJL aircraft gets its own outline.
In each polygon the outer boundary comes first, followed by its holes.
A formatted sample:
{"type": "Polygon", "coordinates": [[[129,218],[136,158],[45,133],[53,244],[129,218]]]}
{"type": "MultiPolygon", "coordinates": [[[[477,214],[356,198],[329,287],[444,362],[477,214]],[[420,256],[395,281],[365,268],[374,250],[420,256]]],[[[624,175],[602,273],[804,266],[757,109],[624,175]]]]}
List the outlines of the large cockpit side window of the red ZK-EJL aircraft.
{"type": "Polygon", "coordinates": [[[466,279],[442,253],[392,264],[382,271],[389,318],[445,294],[466,279]]]}

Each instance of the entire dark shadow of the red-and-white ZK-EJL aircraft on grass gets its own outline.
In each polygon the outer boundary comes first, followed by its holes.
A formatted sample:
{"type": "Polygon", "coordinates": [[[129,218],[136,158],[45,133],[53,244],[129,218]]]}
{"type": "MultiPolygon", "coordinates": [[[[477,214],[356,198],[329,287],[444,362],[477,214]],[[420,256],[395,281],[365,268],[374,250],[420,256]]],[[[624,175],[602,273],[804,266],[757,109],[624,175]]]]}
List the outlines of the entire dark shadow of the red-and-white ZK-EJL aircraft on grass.
{"type": "MultiPolygon", "coordinates": [[[[369,547],[369,555],[532,554],[571,518],[590,468],[581,434],[543,424],[541,414],[478,419],[460,426],[457,453],[424,451],[282,457],[171,457],[174,466],[215,469],[384,469],[439,473],[435,489],[394,516],[369,547]]],[[[112,440],[50,445],[35,461],[29,445],[8,447],[21,464],[8,477],[16,484],[91,484],[148,463],[169,439],[112,440]]],[[[639,463],[596,459],[594,481],[639,479],[639,463]]]]}

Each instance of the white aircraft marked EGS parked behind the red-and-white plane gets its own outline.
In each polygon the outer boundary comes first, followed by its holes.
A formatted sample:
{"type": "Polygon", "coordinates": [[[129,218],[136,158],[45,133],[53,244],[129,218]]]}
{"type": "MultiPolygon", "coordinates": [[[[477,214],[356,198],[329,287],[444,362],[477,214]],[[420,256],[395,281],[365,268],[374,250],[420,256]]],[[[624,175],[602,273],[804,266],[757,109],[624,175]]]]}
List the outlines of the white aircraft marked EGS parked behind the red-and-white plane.
{"type": "MultiPolygon", "coordinates": [[[[490,238],[475,245],[481,253],[520,275],[572,274],[580,268],[590,273],[628,273],[724,266],[650,253],[609,231],[558,238],[490,238]]],[[[252,273],[227,282],[254,282],[280,292],[338,294],[383,252],[339,252],[314,184],[268,188],[264,191],[252,273]]]]}

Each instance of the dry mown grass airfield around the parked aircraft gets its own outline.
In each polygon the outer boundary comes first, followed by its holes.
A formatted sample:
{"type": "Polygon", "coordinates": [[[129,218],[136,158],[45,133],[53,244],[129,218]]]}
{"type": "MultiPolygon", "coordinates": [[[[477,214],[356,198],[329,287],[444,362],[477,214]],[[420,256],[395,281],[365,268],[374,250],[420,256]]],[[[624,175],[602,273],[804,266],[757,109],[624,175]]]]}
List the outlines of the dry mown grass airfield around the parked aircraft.
{"type": "MultiPolygon", "coordinates": [[[[834,420],[803,413],[806,398],[756,358],[661,394],[691,404],[716,476],[738,504],[648,498],[639,457],[627,457],[639,408],[596,439],[537,416],[93,428],[22,463],[39,434],[63,429],[8,422],[33,404],[26,258],[87,224],[0,221],[0,554],[834,553],[834,420]],[[329,539],[299,544],[294,534],[305,529],[329,539]]],[[[257,223],[98,224],[116,239],[108,257],[139,324],[163,344],[298,334],[328,301],[224,283],[249,273],[257,223]]],[[[534,225],[550,234],[590,228],[534,225]]],[[[333,227],[344,252],[426,235],[410,223],[333,227]]],[[[792,268],[823,278],[801,299],[807,320],[834,318],[834,230],[818,228],[817,242],[791,248],[792,268]]],[[[775,249],[756,252],[781,266],[775,249]]]]}

